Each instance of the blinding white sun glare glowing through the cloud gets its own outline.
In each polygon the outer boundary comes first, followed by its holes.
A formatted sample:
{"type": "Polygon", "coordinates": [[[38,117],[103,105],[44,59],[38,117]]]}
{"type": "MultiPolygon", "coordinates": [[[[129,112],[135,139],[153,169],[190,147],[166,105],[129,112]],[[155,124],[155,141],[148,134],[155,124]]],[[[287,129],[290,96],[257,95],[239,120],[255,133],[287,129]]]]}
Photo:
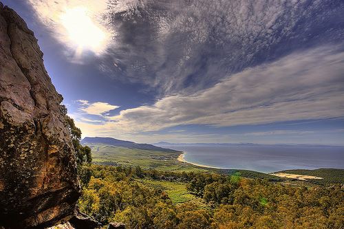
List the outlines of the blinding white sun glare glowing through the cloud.
{"type": "Polygon", "coordinates": [[[101,52],[106,45],[107,33],[97,25],[85,7],[68,9],[61,15],[61,23],[65,28],[69,42],[76,50],[92,50],[101,52]]]}

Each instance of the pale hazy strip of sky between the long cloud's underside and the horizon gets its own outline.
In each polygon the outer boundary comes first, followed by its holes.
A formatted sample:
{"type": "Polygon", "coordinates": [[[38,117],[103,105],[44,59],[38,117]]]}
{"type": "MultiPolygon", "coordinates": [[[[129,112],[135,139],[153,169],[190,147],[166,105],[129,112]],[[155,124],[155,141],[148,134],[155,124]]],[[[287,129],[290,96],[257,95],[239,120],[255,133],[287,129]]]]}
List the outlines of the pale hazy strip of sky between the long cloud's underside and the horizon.
{"type": "MultiPolygon", "coordinates": [[[[83,137],[112,137],[121,140],[131,140],[133,142],[141,143],[156,143],[156,142],[174,142],[174,143],[240,143],[252,142],[260,144],[334,144],[341,143],[343,138],[343,131],[297,131],[297,130],[277,130],[277,131],[262,131],[262,132],[246,132],[246,133],[160,133],[160,132],[127,132],[121,129],[103,129],[103,127],[110,127],[111,123],[105,126],[94,124],[87,124],[85,122],[76,122],[77,127],[83,130],[83,137]],[[338,135],[342,134],[342,135],[338,135]],[[286,138],[288,137],[288,138],[286,138]],[[339,140],[338,140],[339,139],[339,140]],[[319,140],[321,140],[319,142],[319,140]]],[[[115,126],[112,126],[115,127],[115,126]]]]}

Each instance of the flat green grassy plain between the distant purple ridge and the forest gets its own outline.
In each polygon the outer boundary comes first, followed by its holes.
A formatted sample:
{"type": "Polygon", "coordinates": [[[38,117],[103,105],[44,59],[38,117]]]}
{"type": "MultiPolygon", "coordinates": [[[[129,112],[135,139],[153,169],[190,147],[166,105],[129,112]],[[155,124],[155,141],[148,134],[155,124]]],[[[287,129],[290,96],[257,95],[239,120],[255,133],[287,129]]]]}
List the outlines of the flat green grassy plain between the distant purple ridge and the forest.
{"type": "Polygon", "coordinates": [[[167,153],[144,149],[128,149],[105,144],[87,144],[92,149],[93,162],[104,165],[140,166],[160,171],[206,171],[199,166],[178,162],[179,152],[167,153]]]}

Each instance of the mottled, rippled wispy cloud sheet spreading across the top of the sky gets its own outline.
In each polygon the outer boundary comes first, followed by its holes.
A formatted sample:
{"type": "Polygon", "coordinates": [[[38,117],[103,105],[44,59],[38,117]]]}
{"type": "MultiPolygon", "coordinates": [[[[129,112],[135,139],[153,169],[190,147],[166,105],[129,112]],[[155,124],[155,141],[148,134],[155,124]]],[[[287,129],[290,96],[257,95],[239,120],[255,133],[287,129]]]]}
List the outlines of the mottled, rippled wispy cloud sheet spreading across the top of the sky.
{"type": "Polygon", "coordinates": [[[111,35],[95,65],[114,80],[143,83],[160,96],[195,93],[299,48],[343,40],[340,0],[29,2],[66,45],[61,15],[87,8],[92,23],[111,35]]]}

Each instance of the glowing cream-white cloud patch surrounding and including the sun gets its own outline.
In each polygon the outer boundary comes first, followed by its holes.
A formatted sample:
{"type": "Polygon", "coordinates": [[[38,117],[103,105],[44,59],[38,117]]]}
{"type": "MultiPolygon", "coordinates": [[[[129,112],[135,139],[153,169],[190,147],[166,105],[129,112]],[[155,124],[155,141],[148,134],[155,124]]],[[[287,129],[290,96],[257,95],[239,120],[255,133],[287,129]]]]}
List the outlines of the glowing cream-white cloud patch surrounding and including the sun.
{"type": "Polygon", "coordinates": [[[53,36],[70,50],[74,63],[83,63],[79,58],[83,50],[103,54],[113,42],[116,30],[109,26],[109,15],[131,12],[144,6],[142,0],[29,0],[39,21],[53,36]]]}

